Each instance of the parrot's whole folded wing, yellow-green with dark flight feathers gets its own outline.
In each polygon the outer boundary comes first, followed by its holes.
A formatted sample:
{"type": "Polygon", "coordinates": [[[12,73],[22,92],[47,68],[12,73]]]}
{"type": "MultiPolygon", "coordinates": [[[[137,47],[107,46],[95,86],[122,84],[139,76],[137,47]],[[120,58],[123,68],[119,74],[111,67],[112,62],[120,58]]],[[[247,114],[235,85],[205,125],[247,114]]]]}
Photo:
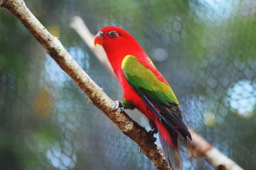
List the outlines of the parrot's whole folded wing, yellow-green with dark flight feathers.
{"type": "MultiPolygon", "coordinates": [[[[166,127],[182,134],[184,139],[187,139],[187,136],[191,139],[191,134],[182,121],[178,107],[179,102],[172,89],[152,72],[151,69],[154,69],[152,61],[149,58],[145,61],[151,63],[149,63],[148,68],[142,65],[136,57],[125,56],[122,61],[125,79],[143,98],[148,107],[155,112],[159,121],[164,123],[166,127]]],[[[159,77],[163,78],[160,73],[159,77]]]]}

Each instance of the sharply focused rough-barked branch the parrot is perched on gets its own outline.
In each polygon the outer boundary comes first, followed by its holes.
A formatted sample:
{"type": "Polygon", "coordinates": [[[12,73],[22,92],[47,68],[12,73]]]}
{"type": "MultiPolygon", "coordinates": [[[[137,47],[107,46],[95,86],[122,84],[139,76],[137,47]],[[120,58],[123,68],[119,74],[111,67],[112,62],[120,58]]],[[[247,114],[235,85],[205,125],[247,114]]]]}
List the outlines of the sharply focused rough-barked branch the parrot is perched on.
{"type": "Polygon", "coordinates": [[[141,151],[147,155],[156,169],[170,169],[163,151],[156,144],[150,143],[150,135],[148,135],[145,128],[138,125],[124,112],[120,112],[119,109],[113,112],[115,104],[111,98],[90,79],[72,56],[68,54],[58,38],[52,36],[36,19],[23,0],[0,0],[0,6],[10,10],[22,22],[42,45],[45,52],[76,82],[77,86],[84,91],[92,103],[104,112],[125,135],[140,146],[141,151]]]}

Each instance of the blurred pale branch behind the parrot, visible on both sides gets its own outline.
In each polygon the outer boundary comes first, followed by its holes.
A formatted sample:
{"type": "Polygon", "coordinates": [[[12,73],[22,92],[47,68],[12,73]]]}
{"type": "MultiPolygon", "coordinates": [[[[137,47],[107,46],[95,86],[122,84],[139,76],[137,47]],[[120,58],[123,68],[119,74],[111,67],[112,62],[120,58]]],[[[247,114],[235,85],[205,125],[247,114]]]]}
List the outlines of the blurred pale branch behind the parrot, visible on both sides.
{"type": "MultiPolygon", "coordinates": [[[[70,26],[77,31],[77,34],[81,36],[84,42],[88,45],[90,50],[95,54],[95,56],[106,65],[109,70],[113,73],[111,66],[109,65],[108,59],[102,48],[95,49],[93,47],[93,35],[90,33],[86,24],[84,24],[81,17],[73,17],[70,26]]],[[[195,131],[189,128],[191,132],[193,141],[189,140],[188,151],[191,157],[204,157],[207,162],[212,164],[216,169],[232,169],[232,170],[243,170],[240,166],[236,164],[233,160],[226,157],[220,150],[214,148],[211,144],[207,143],[204,138],[196,134],[195,131]]]]}

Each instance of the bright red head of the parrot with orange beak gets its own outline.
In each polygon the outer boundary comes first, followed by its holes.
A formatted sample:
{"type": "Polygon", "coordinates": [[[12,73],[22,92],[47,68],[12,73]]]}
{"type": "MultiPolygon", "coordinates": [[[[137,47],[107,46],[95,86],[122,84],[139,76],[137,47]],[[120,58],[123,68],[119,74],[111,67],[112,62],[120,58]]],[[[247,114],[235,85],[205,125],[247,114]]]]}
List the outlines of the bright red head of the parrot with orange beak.
{"type": "Polygon", "coordinates": [[[143,51],[132,35],[116,26],[102,27],[94,38],[94,45],[97,44],[102,45],[110,60],[143,51]]]}

